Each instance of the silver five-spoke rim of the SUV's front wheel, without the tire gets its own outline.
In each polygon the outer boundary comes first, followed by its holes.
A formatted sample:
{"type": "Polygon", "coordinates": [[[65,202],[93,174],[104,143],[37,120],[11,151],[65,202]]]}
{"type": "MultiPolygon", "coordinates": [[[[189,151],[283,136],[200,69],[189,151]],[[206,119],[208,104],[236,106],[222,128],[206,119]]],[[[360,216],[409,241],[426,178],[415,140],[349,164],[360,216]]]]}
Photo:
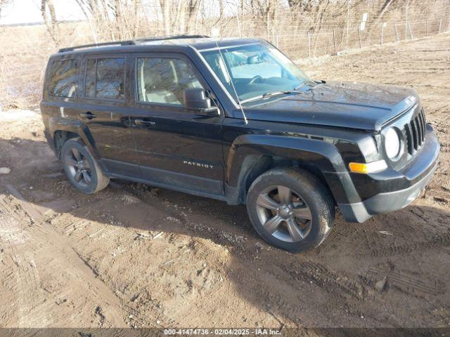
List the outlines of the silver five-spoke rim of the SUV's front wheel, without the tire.
{"type": "Polygon", "coordinates": [[[289,187],[263,190],[257,198],[257,213],[263,227],[284,242],[299,242],[311,231],[311,210],[289,187]]]}

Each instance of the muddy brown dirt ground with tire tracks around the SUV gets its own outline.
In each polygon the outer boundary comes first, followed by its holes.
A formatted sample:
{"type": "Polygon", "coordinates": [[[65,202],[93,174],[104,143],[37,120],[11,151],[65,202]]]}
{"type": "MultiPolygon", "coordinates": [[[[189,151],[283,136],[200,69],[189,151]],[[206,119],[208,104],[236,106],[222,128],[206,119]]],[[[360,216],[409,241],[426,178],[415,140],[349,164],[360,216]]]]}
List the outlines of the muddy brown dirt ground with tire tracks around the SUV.
{"type": "Polygon", "coordinates": [[[418,91],[442,143],[424,197],[364,224],[338,215],[319,249],[287,253],[244,206],[123,181],[81,194],[39,111],[1,112],[0,326],[449,327],[450,35],[300,63],[418,91]]]}

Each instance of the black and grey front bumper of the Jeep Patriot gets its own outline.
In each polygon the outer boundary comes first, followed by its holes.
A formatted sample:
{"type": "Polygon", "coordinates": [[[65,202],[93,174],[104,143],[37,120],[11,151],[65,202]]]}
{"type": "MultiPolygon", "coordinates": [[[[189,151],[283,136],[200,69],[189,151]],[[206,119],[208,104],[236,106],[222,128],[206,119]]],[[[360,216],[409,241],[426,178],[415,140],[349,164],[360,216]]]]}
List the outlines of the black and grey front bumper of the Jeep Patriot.
{"type": "Polygon", "coordinates": [[[371,177],[375,182],[378,179],[387,179],[390,180],[390,186],[407,185],[407,187],[380,192],[360,202],[338,204],[342,216],[350,223],[363,223],[375,214],[397,211],[411,204],[430,183],[437,167],[439,148],[439,140],[429,126],[425,136],[425,145],[406,168],[399,172],[392,171],[392,174],[384,172],[371,177]]]}

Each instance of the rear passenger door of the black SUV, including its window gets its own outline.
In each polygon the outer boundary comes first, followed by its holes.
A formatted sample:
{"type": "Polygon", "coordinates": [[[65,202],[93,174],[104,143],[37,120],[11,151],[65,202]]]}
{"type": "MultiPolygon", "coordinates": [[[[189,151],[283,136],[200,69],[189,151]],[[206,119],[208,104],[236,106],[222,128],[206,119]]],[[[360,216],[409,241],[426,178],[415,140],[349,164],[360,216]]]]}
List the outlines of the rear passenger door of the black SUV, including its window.
{"type": "Polygon", "coordinates": [[[84,59],[78,118],[89,128],[106,171],[135,177],[140,171],[129,126],[128,61],[124,55],[84,59]]]}

